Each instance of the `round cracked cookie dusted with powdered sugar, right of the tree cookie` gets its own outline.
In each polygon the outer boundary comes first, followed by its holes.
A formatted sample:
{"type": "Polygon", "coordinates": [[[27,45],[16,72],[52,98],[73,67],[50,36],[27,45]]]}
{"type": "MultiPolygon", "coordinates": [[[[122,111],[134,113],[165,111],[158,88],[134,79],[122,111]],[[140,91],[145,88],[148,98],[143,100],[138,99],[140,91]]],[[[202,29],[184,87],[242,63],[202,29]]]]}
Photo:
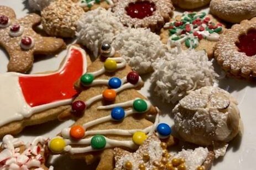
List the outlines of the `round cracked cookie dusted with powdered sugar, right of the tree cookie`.
{"type": "MultiPolygon", "coordinates": [[[[237,104],[236,99],[221,88],[197,89],[173,109],[175,129],[182,139],[197,145],[229,142],[237,136],[242,125],[237,104]]],[[[216,157],[223,155],[226,149],[222,151],[215,152],[216,157]]]]}

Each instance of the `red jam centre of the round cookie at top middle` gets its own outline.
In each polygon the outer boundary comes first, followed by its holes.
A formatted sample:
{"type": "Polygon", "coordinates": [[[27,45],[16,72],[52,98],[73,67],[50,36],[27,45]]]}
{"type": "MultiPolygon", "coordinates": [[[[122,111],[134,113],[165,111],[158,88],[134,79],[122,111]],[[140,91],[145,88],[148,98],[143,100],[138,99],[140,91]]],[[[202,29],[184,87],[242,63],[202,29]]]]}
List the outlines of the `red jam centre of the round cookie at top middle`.
{"type": "Polygon", "coordinates": [[[127,14],[132,18],[143,19],[149,17],[155,11],[155,4],[149,1],[137,1],[134,3],[129,3],[126,7],[127,14]]]}

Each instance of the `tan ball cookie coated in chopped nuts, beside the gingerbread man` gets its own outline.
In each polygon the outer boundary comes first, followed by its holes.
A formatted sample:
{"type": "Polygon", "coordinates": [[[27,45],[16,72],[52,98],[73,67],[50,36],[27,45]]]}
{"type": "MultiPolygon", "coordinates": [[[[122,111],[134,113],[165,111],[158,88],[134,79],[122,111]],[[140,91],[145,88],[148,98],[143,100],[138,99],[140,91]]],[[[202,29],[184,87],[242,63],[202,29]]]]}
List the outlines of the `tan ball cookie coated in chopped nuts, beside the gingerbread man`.
{"type": "Polygon", "coordinates": [[[76,22],[83,9],[70,0],[56,0],[41,12],[43,29],[51,36],[71,38],[75,36],[76,22]]]}

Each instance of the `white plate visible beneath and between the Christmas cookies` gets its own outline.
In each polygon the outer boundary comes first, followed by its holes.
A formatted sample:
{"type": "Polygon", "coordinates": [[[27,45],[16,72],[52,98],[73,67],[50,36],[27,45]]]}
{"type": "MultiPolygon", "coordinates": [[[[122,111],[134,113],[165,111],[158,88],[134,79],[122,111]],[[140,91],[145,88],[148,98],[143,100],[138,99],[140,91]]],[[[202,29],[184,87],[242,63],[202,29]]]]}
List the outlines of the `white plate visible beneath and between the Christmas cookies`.
{"type": "MultiPolygon", "coordinates": [[[[26,3],[22,0],[0,0],[0,5],[8,6],[14,9],[17,17],[23,17],[28,13],[27,8],[25,8],[26,3]]],[[[208,9],[203,9],[208,11],[208,9]]],[[[178,14],[180,12],[175,12],[178,14]]],[[[31,73],[44,72],[49,70],[56,70],[59,67],[60,62],[65,56],[66,51],[61,52],[58,57],[48,57],[47,59],[36,60],[32,68],[31,73]]],[[[8,56],[3,51],[0,50],[0,73],[7,71],[8,56]]],[[[220,68],[215,65],[216,70],[220,72],[220,68]]],[[[161,121],[173,125],[173,120],[170,116],[171,105],[160,102],[161,99],[156,97],[153,93],[153,87],[149,81],[150,76],[144,76],[145,86],[140,90],[142,94],[147,96],[151,102],[157,106],[164,116],[161,116],[161,121]]],[[[1,84],[0,84],[1,86],[1,84]]],[[[231,142],[228,147],[228,152],[226,156],[215,161],[213,164],[213,170],[226,170],[226,169],[255,169],[256,166],[256,115],[254,110],[254,105],[256,101],[256,88],[254,84],[250,84],[245,81],[239,81],[237,79],[222,79],[220,82],[220,87],[227,89],[232,93],[234,97],[237,98],[239,102],[239,109],[241,111],[241,116],[244,124],[244,131],[242,139],[237,137],[231,142]]],[[[58,121],[52,121],[43,125],[36,125],[26,127],[19,135],[24,141],[31,141],[35,136],[44,135],[49,137],[54,137],[58,134],[62,128],[70,126],[73,121],[66,121],[64,123],[59,123],[58,121]]],[[[93,166],[86,166],[83,160],[70,160],[67,156],[54,157],[50,160],[49,164],[52,164],[54,169],[95,169],[93,166]]]]}

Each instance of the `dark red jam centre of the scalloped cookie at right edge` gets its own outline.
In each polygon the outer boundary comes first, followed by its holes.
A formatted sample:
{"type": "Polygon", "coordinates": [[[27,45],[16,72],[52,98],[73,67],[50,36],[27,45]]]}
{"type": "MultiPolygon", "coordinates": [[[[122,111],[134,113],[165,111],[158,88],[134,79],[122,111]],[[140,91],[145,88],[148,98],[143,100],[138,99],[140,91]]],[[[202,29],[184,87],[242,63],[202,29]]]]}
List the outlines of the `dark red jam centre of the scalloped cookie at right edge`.
{"type": "Polygon", "coordinates": [[[256,29],[249,30],[247,34],[239,36],[236,43],[239,52],[244,52],[247,56],[256,55],[256,29]]]}

